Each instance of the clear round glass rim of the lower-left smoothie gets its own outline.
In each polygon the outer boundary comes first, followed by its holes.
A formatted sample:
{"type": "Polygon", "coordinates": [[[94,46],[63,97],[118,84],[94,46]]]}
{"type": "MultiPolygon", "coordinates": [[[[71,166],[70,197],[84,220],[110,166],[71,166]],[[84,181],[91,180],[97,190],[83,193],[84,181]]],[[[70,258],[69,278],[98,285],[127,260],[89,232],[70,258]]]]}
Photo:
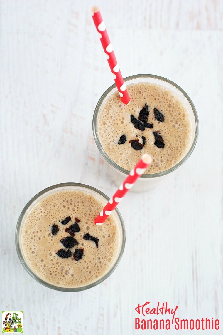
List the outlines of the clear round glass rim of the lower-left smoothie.
{"type": "Polygon", "coordinates": [[[29,275],[35,279],[37,282],[39,282],[40,284],[57,290],[57,291],[66,291],[66,292],[76,292],[76,291],[83,291],[86,289],[89,289],[91,287],[94,287],[98,284],[100,284],[101,282],[103,282],[105,279],[107,279],[111,273],[115,270],[115,268],[117,267],[117,265],[119,264],[123,252],[124,252],[124,248],[125,248],[125,240],[126,240],[126,235],[125,235],[125,226],[124,226],[124,221],[122,219],[122,216],[119,212],[119,210],[117,209],[117,207],[114,209],[114,211],[116,212],[118,219],[120,221],[120,231],[122,233],[122,244],[120,247],[120,251],[117,257],[117,260],[115,261],[115,263],[113,264],[113,266],[111,267],[111,269],[104,275],[102,276],[100,279],[96,280],[95,282],[88,284],[88,285],[84,285],[84,286],[80,286],[80,287],[60,287],[60,286],[56,286],[50,283],[45,282],[44,280],[42,280],[41,278],[39,278],[28,266],[28,264],[26,263],[25,259],[23,258],[22,252],[21,252],[21,246],[19,243],[19,232],[20,232],[20,227],[21,227],[21,223],[22,223],[22,219],[24,217],[24,215],[26,214],[27,210],[29,209],[29,207],[32,205],[32,203],[37,200],[39,197],[41,197],[42,195],[46,194],[47,192],[51,191],[51,190],[56,190],[56,189],[61,189],[61,188],[66,188],[66,187],[74,187],[75,189],[85,189],[85,190],[91,190],[94,193],[99,194],[101,197],[103,197],[106,201],[109,201],[109,197],[104,194],[103,192],[101,192],[100,190],[86,185],[86,184],[80,184],[80,183],[61,183],[61,184],[55,184],[52,186],[49,186],[47,188],[45,188],[44,190],[38,192],[36,195],[34,195],[34,197],[32,197],[27,204],[24,206],[21,214],[19,215],[18,221],[17,221],[17,225],[16,225],[16,230],[15,230],[15,246],[16,246],[16,251],[19,257],[20,262],[22,263],[23,267],[25,268],[25,270],[29,273],[29,275]]]}

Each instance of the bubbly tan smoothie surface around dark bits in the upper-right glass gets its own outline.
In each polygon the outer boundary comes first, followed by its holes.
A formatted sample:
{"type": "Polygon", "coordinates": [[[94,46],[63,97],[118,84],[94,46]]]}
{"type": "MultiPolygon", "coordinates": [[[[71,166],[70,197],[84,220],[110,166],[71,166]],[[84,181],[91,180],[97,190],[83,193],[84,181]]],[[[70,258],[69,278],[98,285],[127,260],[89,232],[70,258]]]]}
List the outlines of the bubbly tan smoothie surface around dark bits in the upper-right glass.
{"type": "Polygon", "coordinates": [[[107,155],[119,166],[130,171],[143,153],[152,156],[152,163],[145,174],[158,173],[176,165],[188,152],[192,140],[192,122],[187,107],[181,98],[164,86],[153,83],[136,83],[127,85],[131,101],[124,105],[117,92],[113,93],[104,104],[98,117],[98,134],[107,155]],[[140,110],[148,104],[148,123],[153,128],[142,132],[130,121],[132,114],[136,119],[140,110]],[[156,108],[164,116],[164,122],[154,117],[156,108]],[[154,145],[153,132],[161,134],[164,148],[154,145]],[[118,144],[120,136],[125,135],[124,144],[118,144]],[[138,138],[145,145],[141,150],[134,150],[130,140],[138,138]]]}

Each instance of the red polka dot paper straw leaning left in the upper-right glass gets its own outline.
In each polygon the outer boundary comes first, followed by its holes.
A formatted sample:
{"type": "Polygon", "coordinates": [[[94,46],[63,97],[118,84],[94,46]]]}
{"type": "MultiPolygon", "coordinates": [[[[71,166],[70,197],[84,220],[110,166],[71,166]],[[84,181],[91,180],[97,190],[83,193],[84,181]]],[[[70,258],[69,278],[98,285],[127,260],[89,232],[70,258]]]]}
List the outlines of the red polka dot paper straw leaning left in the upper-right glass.
{"type": "Polygon", "coordinates": [[[109,40],[107,30],[105,28],[105,23],[101,17],[100,10],[98,9],[98,7],[92,7],[91,12],[92,12],[94,24],[96,26],[96,29],[98,31],[98,34],[101,40],[102,47],[104,49],[105,55],[108,60],[108,64],[110,66],[113,78],[115,79],[115,83],[116,83],[120,98],[125,105],[128,105],[130,102],[130,97],[128,95],[128,91],[126,89],[121,71],[119,69],[118,62],[115,58],[112,44],[109,40]]]}

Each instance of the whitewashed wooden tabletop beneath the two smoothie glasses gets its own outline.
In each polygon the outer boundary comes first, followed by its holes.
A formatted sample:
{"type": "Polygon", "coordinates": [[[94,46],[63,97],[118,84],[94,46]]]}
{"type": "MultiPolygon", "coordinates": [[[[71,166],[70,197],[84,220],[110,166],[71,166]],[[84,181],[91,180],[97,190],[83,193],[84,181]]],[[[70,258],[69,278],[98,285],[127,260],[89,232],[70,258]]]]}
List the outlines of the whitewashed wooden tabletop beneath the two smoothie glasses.
{"type": "Polygon", "coordinates": [[[180,319],[219,319],[220,329],[207,333],[222,334],[223,1],[1,0],[0,13],[1,310],[23,311],[25,334],[204,333],[135,330],[138,304],[168,302],[180,319]],[[14,231],[24,205],[50,185],[116,190],[92,134],[95,105],[113,84],[95,4],[122,75],[178,83],[196,106],[200,134],[189,160],[160,187],[119,204],[126,247],[115,272],[66,293],[26,273],[14,231]]]}

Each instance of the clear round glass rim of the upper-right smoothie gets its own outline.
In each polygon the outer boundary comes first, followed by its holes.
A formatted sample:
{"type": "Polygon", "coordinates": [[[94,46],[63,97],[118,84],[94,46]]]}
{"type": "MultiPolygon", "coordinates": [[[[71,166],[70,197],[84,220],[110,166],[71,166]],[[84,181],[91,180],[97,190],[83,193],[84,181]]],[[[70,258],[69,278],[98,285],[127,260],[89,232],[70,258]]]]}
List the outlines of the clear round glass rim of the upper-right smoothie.
{"type": "MultiPolygon", "coordinates": [[[[189,95],[178,85],[176,84],[175,82],[167,79],[167,78],[164,78],[164,77],[161,77],[161,76],[158,76],[158,75],[154,75],[154,74],[135,74],[135,75],[132,75],[132,76],[128,76],[128,77],[125,77],[123,78],[124,79],[124,82],[126,83],[127,81],[130,81],[132,79],[141,79],[141,78],[151,78],[151,79],[158,79],[158,80],[162,80],[164,82],[167,82],[168,84],[171,84],[172,86],[174,86],[175,88],[177,88],[184,96],[185,98],[188,100],[191,108],[192,108],[192,111],[193,111],[193,114],[194,114],[194,119],[195,119],[195,135],[194,135],[194,139],[193,139],[193,142],[191,144],[191,147],[190,149],[188,150],[187,154],[177,163],[175,164],[174,166],[172,166],[170,169],[167,169],[165,171],[162,171],[162,172],[158,172],[158,173],[152,173],[152,174],[143,174],[141,175],[139,178],[140,179],[149,179],[149,178],[157,178],[157,177],[161,177],[161,176],[165,176],[165,175],[168,175],[169,173],[173,172],[174,170],[176,170],[179,166],[181,166],[189,157],[190,155],[192,154],[194,148],[195,148],[195,145],[197,143],[197,139],[198,139],[198,133],[199,133],[199,121],[198,121],[198,115],[197,115],[197,111],[195,109],[195,106],[191,100],[191,98],[189,97],[189,95]]],[[[116,84],[113,84],[111,85],[103,94],[102,96],[100,97],[100,99],[98,100],[98,103],[95,107],[95,111],[94,111],[94,115],[93,115],[93,120],[92,120],[92,129],[93,129],[93,136],[94,136],[94,140],[95,140],[95,143],[100,151],[100,153],[102,154],[103,158],[111,165],[113,166],[116,170],[118,170],[119,172],[125,174],[125,175],[128,175],[129,174],[129,171],[124,169],[123,167],[119,166],[117,163],[115,163],[108,155],[107,153],[104,151],[102,145],[101,145],[101,142],[99,140],[99,136],[98,136],[98,130],[97,130],[97,117],[98,117],[98,112],[100,110],[100,107],[101,105],[104,103],[105,101],[105,98],[107,97],[107,95],[114,89],[116,88],[117,90],[117,87],[116,87],[116,84]]],[[[115,92],[115,91],[114,91],[115,92]]]]}

